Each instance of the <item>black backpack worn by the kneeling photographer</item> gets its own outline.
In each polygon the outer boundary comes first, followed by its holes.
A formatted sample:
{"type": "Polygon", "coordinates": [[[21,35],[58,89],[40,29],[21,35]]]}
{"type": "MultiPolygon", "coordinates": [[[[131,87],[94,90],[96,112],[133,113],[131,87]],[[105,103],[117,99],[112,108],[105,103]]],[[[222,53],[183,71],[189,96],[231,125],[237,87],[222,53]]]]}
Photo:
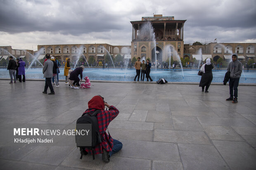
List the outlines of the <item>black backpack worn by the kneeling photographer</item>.
{"type": "Polygon", "coordinates": [[[92,150],[92,158],[93,160],[95,159],[94,156],[94,148],[98,144],[102,142],[101,136],[100,136],[100,131],[99,131],[99,124],[96,115],[100,112],[100,110],[95,110],[94,113],[83,113],[81,117],[79,117],[76,121],[76,131],[82,131],[85,130],[85,126],[88,127],[89,132],[88,136],[86,138],[87,142],[85,141],[85,137],[78,135],[76,133],[76,147],[80,147],[80,153],[81,157],[80,159],[83,158],[84,149],[88,148],[92,150]],[[88,139],[91,139],[88,141],[88,139]]]}

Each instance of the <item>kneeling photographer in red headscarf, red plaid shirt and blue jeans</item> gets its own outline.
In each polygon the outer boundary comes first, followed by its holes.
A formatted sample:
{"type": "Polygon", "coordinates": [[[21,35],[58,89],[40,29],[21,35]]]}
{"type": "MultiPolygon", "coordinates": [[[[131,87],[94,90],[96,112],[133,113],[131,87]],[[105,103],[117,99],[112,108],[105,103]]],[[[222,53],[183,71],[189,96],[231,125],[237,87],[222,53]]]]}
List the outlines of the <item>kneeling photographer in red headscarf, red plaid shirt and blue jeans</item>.
{"type": "MultiPolygon", "coordinates": [[[[110,106],[100,95],[92,97],[92,99],[88,102],[88,109],[85,110],[84,113],[92,114],[95,112],[95,110],[100,110],[96,117],[99,124],[99,132],[102,142],[96,145],[93,152],[94,154],[102,154],[102,160],[109,162],[110,156],[121,150],[123,147],[121,142],[113,139],[110,134],[107,135],[106,132],[109,123],[119,114],[119,110],[114,106],[110,106]],[[104,110],[105,106],[107,106],[109,110],[104,110]]],[[[83,150],[83,154],[86,155],[88,153],[92,154],[92,150],[85,148],[83,150]]]]}

